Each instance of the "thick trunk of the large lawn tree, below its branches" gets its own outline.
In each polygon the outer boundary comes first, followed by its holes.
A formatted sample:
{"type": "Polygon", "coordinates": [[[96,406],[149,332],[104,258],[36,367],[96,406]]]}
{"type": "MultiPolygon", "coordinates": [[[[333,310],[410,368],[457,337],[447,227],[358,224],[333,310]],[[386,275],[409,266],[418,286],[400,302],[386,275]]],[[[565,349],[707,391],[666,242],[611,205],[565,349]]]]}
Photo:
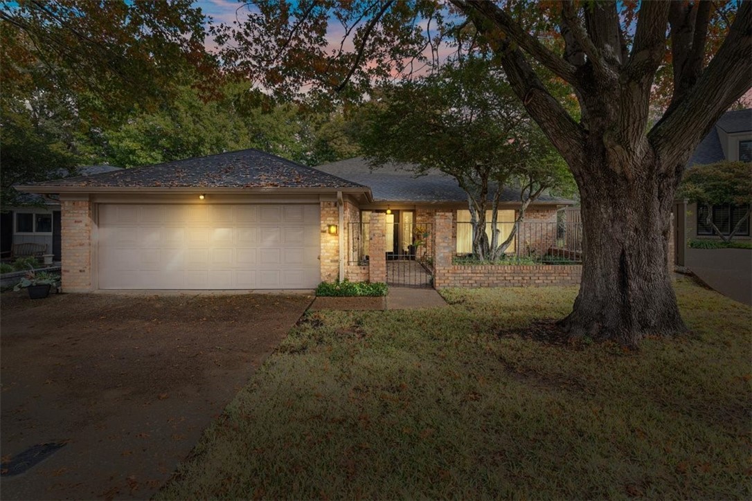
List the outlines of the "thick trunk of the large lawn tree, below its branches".
{"type": "Polygon", "coordinates": [[[624,167],[590,169],[581,186],[582,282],[572,313],[559,324],[571,337],[636,346],[646,335],[686,327],[667,262],[675,180],[654,174],[655,165],[624,167]]]}

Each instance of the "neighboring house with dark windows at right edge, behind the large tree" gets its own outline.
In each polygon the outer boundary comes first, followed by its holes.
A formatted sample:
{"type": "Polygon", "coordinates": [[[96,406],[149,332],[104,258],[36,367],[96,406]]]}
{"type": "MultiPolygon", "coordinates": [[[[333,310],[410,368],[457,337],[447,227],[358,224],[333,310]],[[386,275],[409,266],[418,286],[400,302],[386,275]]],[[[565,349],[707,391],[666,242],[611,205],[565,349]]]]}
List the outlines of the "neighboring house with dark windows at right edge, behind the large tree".
{"type": "MultiPolygon", "coordinates": [[[[728,111],[720,117],[705,139],[695,149],[687,167],[696,164],[713,164],[718,161],[752,161],[752,109],[728,111]]],[[[747,207],[733,205],[714,206],[712,219],[723,234],[729,234],[747,212],[747,207]]],[[[696,203],[676,201],[675,205],[675,264],[684,266],[684,247],[687,240],[696,238],[717,239],[712,228],[705,223],[707,208],[696,203]]],[[[750,222],[747,219],[736,233],[735,239],[750,239],[750,222]]]]}

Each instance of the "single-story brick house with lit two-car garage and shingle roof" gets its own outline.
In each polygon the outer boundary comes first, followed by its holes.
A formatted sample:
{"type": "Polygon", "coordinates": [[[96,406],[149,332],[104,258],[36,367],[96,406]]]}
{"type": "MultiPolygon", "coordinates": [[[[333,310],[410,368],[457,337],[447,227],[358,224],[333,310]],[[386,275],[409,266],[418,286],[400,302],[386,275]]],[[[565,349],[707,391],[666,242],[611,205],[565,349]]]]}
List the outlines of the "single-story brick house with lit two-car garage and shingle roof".
{"type": "MultiPolygon", "coordinates": [[[[470,250],[457,228],[468,226],[467,201],[452,178],[371,173],[362,159],[314,169],[246,149],[19,189],[59,196],[65,291],[384,281],[387,259],[414,258],[421,244],[432,251],[434,222],[447,232],[435,235],[442,262],[470,250]]],[[[514,219],[517,196],[505,192],[502,222],[514,219]]],[[[569,204],[544,196],[527,218],[550,224],[555,240],[556,209],[569,204]]]]}

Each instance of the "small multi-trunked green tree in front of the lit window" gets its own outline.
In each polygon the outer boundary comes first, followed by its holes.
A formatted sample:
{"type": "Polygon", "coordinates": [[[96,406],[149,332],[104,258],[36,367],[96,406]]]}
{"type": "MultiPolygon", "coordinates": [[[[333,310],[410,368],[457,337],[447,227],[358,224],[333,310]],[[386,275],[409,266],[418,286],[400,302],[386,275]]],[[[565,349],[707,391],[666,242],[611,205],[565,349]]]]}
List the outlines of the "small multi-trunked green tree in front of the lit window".
{"type": "Polygon", "coordinates": [[[501,258],[517,234],[515,224],[499,241],[505,188],[519,192],[514,222],[520,223],[541,193],[572,180],[503,72],[487,60],[447,62],[435,74],[385,86],[378,96],[360,117],[365,156],[374,167],[402,162],[417,175],[437,168],[453,177],[467,194],[473,255],[481,261],[501,258]],[[490,240],[487,210],[494,228],[490,240]]]}

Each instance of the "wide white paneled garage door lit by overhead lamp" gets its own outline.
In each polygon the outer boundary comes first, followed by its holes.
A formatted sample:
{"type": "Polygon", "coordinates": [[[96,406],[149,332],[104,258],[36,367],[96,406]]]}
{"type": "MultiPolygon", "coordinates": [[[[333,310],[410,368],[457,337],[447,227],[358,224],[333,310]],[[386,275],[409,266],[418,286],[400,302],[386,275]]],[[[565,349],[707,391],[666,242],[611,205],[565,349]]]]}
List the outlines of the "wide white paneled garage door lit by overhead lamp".
{"type": "Polygon", "coordinates": [[[99,288],[315,288],[319,206],[99,206],[99,288]]]}

